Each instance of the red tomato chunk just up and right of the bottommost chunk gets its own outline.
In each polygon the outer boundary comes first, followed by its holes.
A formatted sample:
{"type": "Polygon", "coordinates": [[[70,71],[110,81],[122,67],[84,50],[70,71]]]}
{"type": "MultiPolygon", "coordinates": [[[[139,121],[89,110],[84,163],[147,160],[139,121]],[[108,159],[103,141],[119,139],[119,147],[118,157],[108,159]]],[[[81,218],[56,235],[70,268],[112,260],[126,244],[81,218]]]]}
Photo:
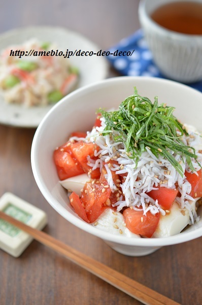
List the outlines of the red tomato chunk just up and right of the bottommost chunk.
{"type": "Polygon", "coordinates": [[[178,190],[161,187],[158,188],[158,190],[150,191],[147,193],[147,195],[154,200],[158,200],[158,204],[160,204],[163,208],[170,209],[178,195],[178,190]]]}

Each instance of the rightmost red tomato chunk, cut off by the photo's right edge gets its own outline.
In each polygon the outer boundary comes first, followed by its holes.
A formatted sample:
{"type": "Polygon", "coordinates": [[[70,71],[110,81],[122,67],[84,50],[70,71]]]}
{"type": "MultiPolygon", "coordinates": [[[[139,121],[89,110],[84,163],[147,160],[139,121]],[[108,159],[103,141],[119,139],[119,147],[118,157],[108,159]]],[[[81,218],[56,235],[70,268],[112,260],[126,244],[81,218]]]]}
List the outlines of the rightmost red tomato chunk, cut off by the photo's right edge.
{"type": "Polygon", "coordinates": [[[197,171],[198,176],[195,173],[185,172],[187,181],[191,184],[191,193],[189,194],[193,198],[202,197],[202,170],[197,171]]]}

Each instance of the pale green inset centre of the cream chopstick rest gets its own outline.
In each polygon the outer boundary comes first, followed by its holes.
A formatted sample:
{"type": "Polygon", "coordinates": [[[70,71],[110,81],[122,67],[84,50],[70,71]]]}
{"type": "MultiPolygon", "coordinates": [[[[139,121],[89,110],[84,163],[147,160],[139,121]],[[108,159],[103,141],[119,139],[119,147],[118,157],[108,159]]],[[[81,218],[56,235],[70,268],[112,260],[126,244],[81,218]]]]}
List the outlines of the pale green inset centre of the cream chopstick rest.
{"type": "MultiPolygon", "coordinates": [[[[26,224],[29,219],[31,218],[31,214],[23,211],[22,209],[20,209],[19,207],[9,203],[4,209],[3,212],[5,212],[5,214],[23,222],[24,224],[26,224]]],[[[18,229],[17,227],[11,225],[10,223],[8,223],[7,221],[0,219],[0,230],[3,231],[4,233],[8,234],[11,237],[16,236],[17,234],[19,234],[20,232],[22,232],[20,229],[18,229]]]]}

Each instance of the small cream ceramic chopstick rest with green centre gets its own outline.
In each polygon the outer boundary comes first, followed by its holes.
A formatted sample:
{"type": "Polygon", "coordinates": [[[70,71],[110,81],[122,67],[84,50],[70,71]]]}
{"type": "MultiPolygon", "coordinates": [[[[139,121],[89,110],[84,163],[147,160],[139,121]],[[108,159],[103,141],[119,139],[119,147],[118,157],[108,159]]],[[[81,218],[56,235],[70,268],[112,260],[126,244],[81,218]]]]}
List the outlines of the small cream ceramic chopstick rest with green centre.
{"type": "MultiPolygon", "coordinates": [[[[48,221],[43,210],[12,193],[5,193],[1,197],[0,210],[38,230],[42,230],[48,221]]],[[[32,240],[29,234],[0,219],[0,249],[19,257],[32,240]]]]}

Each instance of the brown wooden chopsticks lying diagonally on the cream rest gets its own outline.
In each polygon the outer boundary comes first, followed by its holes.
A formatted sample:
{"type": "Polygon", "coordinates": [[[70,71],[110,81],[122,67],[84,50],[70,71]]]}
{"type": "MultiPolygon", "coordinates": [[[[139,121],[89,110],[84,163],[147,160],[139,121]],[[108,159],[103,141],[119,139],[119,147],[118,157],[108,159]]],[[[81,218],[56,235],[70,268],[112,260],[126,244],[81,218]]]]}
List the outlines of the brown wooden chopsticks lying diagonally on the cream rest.
{"type": "Polygon", "coordinates": [[[120,289],[131,297],[141,301],[143,304],[179,305],[179,303],[173,301],[172,299],[169,299],[160,293],[122,275],[118,271],[86,256],[76,249],[65,245],[65,243],[55,239],[47,233],[31,228],[24,223],[19,222],[2,211],[0,211],[0,218],[28,233],[36,240],[43,243],[43,245],[46,245],[56,252],[62,254],[72,262],[93,273],[93,275],[120,289]]]}

